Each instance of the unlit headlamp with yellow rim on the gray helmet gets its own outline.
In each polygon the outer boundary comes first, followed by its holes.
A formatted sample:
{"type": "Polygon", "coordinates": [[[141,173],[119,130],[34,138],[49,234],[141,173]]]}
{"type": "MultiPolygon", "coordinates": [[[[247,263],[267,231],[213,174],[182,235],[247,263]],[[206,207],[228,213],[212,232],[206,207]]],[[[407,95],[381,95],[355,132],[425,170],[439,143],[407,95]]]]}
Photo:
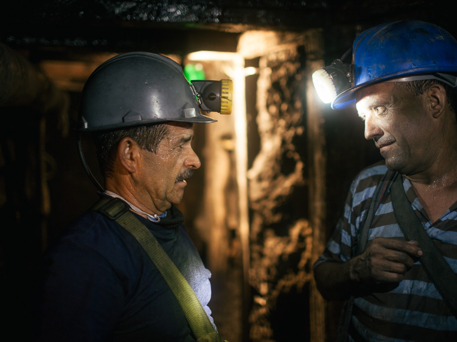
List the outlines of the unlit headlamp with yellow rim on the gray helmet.
{"type": "Polygon", "coordinates": [[[206,112],[232,113],[232,80],[191,81],[200,108],[206,112]]]}

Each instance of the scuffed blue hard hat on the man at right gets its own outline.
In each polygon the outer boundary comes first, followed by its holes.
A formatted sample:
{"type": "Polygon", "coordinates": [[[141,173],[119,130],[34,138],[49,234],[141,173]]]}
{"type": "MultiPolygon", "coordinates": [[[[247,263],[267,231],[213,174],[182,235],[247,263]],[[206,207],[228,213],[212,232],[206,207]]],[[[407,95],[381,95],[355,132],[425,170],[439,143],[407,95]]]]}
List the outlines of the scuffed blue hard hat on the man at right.
{"type": "Polygon", "coordinates": [[[355,91],[394,78],[457,73],[457,41],[442,28],[403,20],[362,32],[353,45],[352,87],[332,102],[333,109],[355,102],[355,91]]]}

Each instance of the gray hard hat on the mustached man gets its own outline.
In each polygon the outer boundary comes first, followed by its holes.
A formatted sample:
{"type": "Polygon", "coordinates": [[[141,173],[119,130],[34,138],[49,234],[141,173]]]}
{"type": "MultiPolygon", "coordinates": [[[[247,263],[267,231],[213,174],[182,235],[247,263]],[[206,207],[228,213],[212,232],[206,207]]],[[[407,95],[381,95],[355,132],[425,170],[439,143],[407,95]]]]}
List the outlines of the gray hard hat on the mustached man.
{"type": "Polygon", "coordinates": [[[79,109],[81,131],[102,131],[167,121],[210,123],[180,65],[147,52],[121,54],[87,80],[79,109]]]}

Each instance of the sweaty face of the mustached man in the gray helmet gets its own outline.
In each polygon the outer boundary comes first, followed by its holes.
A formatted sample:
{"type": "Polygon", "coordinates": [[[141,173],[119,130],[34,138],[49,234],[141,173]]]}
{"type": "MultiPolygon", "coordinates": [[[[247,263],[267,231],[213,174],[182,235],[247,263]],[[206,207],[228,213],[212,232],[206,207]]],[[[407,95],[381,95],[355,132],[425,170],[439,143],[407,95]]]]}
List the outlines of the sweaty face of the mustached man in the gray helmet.
{"type": "Polygon", "coordinates": [[[186,123],[167,124],[168,135],[159,143],[157,153],[141,150],[140,165],[135,175],[143,205],[150,201],[164,212],[183,199],[185,178],[200,167],[200,159],[191,146],[194,128],[186,123]]]}

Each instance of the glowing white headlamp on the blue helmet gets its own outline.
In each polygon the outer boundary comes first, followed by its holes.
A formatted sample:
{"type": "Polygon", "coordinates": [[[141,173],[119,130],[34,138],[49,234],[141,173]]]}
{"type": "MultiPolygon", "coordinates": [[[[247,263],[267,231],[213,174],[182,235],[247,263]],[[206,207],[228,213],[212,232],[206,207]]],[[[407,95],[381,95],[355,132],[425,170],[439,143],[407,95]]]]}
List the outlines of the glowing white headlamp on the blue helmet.
{"type": "Polygon", "coordinates": [[[330,66],[313,73],[314,88],[324,103],[332,102],[338,94],[351,87],[354,79],[352,65],[343,63],[350,52],[351,49],[341,59],[334,60],[330,66]]]}

